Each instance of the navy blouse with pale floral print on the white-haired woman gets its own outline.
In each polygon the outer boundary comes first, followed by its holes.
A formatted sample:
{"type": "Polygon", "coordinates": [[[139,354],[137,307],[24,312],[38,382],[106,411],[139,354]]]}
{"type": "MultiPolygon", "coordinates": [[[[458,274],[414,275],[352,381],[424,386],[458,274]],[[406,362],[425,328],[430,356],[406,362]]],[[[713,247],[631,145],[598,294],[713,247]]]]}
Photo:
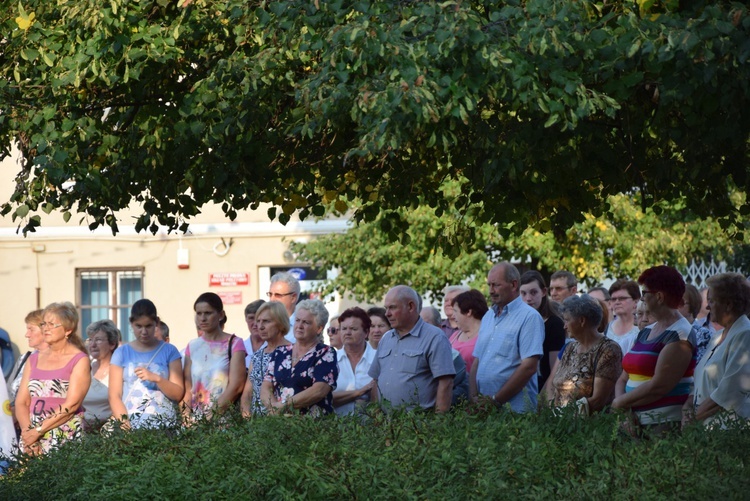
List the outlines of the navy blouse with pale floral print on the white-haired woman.
{"type": "Polygon", "coordinates": [[[300,412],[312,416],[330,414],[333,412],[333,390],[336,389],[339,375],[335,350],[318,343],[297,365],[292,366],[292,349],[293,345],[276,348],[263,380],[273,384],[273,394],[280,402],[286,402],[289,397],[310,388],[314,383],[326,383],[331,391],[325,398],[300,412]]]}

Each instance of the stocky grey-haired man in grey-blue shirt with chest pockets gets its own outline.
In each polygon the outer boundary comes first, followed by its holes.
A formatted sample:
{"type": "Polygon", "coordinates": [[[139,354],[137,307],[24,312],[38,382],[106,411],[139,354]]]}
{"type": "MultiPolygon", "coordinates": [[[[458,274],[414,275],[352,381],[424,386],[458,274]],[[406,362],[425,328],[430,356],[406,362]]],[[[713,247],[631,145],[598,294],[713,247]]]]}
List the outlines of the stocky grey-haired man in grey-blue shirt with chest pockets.
{"type": "Polygon", "coordinates": [[[420,318],[419,304],[419,295],[405,285],[397,285],[385,295],[392,329],[380,340],[369,375],[375,395],[393,406],[446,412],[456,375],[451,346],[438,327],[420,318]]]}

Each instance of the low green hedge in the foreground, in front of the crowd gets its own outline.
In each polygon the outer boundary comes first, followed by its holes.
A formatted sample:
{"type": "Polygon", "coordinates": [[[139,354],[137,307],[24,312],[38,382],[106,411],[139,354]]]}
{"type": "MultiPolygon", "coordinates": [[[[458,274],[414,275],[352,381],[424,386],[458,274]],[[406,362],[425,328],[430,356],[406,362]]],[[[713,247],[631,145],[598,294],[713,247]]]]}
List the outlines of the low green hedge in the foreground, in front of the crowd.
{"type": "Polygon", "coordinates": [[[0,499],[741,499],[747,428],[635,441],[615,416],[274,417],[115,432],[26,460],[0,499]]]}

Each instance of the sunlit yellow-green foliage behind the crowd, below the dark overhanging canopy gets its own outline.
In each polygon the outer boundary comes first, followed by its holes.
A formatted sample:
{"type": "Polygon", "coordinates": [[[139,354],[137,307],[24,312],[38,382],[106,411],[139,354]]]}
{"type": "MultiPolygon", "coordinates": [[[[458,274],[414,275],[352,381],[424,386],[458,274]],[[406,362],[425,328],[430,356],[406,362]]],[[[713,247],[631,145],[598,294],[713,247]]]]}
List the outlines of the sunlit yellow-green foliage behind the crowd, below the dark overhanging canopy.
{"type": "MultiPolygon", "coordinates": [[[[446,200],[459,196],[455,186],[444,186],[446,200]]],[[[562,234],[527,228],[519,235],[502,237],[492,224],[476,224],[473,210],[451,210],[439,217],[429,207],[402,211],[403,238],[391,242],[388,214],[362,223],[346,233],[292,243],[301,261],[321,269],[337,269],[335,278],[321,287],[350,293],[361,301],[380,301],[395,284],[411,284],[421,293],[440,297],[449,284],[469,284],[485,290],[491,261],[520,260],[550,272],[565,269],[589,285],[603,278],[638,278],[643,270],[667,263],[685,269],[693,258],[727,259],[734,241],[714,219],[696,220],[684,201],[643,209],[640,194],[607,199],[599,217],[583,214],[562,234]],[[470,230],[468,230],[470,228],[470,230]],[[444,248],[456,232],[470,231],[463,245],[444,248]]]]}

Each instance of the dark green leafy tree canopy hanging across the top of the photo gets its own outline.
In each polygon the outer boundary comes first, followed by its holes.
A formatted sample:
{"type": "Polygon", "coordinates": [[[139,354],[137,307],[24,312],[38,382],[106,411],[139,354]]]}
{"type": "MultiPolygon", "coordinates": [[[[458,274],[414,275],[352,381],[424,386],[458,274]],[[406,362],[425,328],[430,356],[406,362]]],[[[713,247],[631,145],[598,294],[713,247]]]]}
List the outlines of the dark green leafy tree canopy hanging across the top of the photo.
{"type": "Polygon", "coordinates": [[[22,155],[2,213],[115,232],[133,202],[152,231],[208,202],[353,207],[396,237],[426,204],[562,234],[637,188],[731,224],[750,14],[676,3],[0,0],[0,156],[22,155]]]}

